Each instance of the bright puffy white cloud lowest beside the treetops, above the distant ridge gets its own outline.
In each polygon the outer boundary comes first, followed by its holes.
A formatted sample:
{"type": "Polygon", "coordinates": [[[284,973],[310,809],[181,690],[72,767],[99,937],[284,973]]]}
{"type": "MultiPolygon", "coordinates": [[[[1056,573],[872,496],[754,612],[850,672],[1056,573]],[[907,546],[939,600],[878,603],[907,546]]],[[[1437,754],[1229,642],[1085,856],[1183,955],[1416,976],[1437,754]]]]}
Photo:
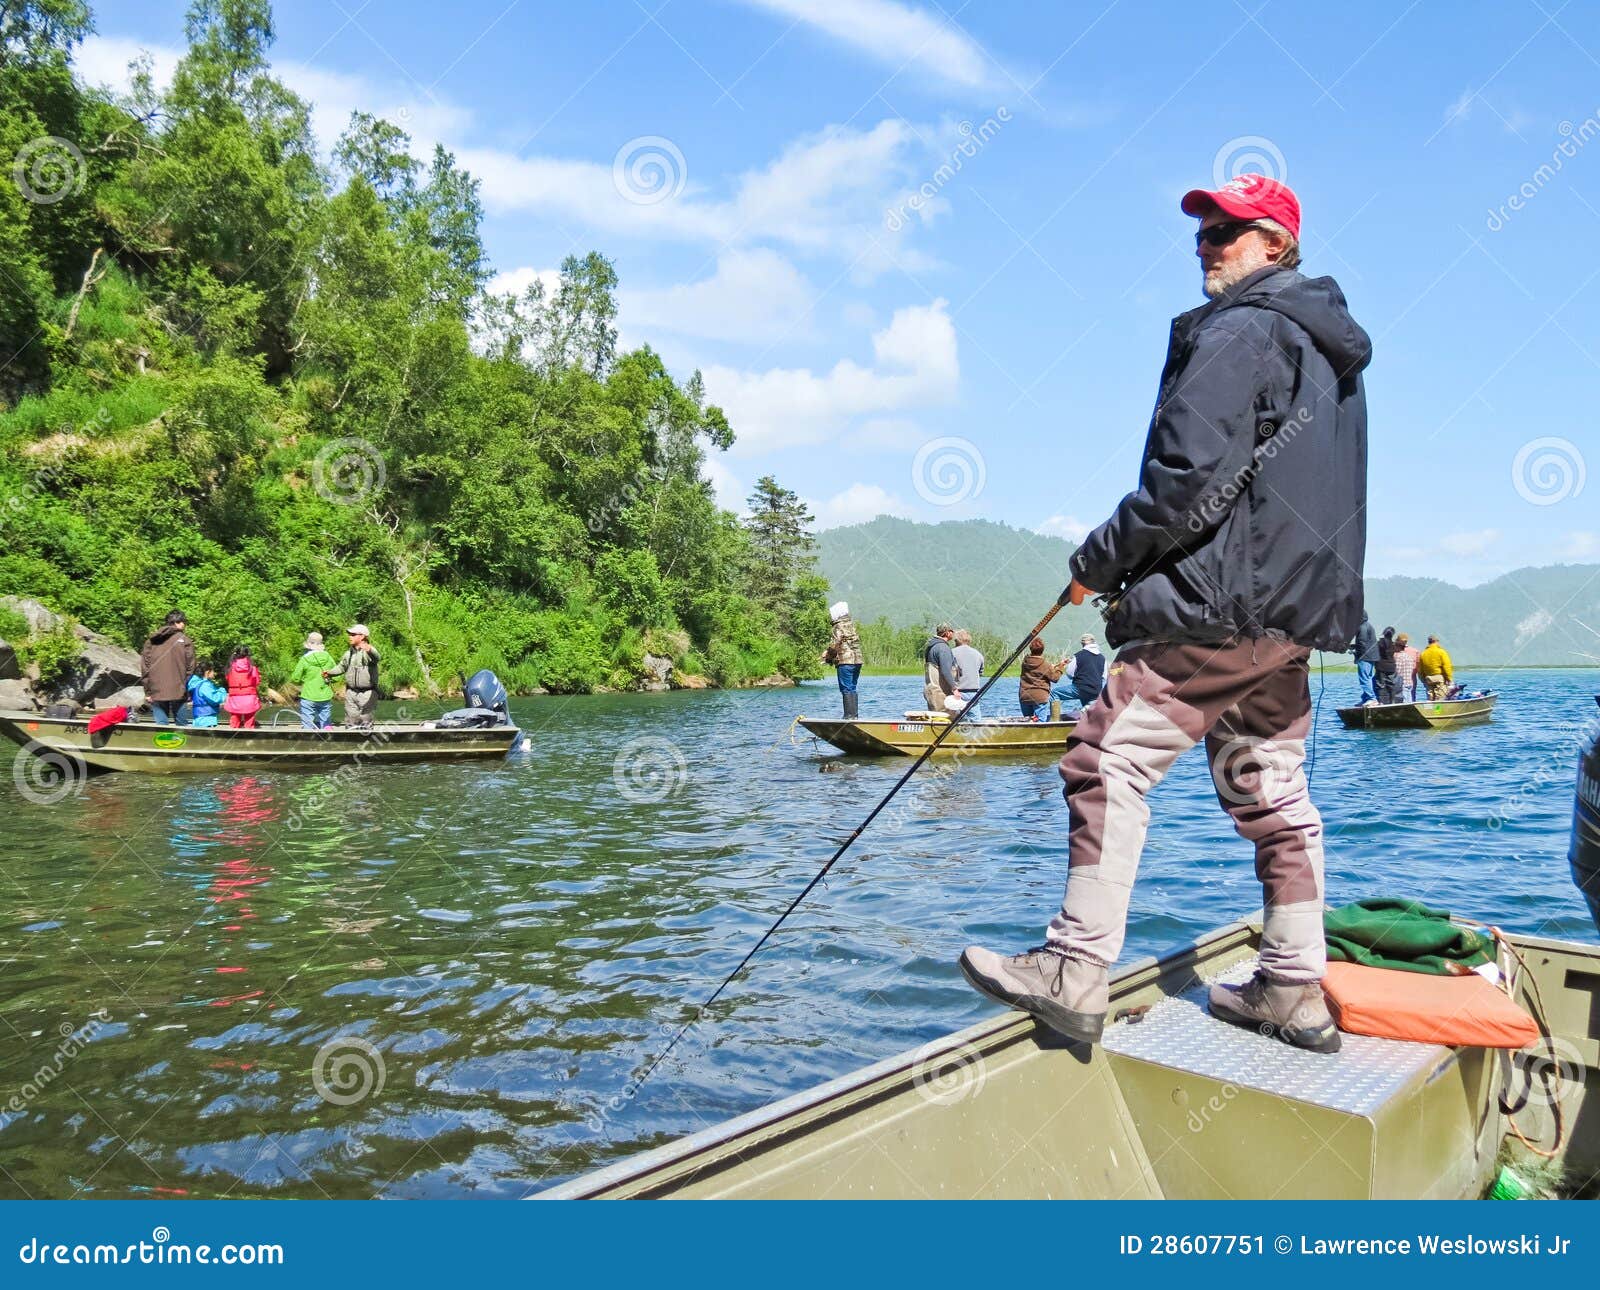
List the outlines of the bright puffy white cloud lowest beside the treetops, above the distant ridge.
{"type": "Polygon", "coordinates": [[[960,383],[955,327],[947,302],[898,309],[872,338],[874,365],[840,359],[827,373],[810,368],[744,371],[706,368],[706,391],[738,435],[736,453],[822,443],[856,416],[946,403],[960,383]]]}

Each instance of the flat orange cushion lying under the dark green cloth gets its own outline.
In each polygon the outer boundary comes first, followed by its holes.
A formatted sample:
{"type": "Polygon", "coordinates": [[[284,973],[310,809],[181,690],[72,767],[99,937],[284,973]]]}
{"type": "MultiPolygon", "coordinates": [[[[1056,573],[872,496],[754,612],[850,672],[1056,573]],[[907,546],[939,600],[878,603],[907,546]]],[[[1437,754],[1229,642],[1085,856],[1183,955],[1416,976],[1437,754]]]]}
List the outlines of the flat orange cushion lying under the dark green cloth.
{"type": "Polygon", "coordinates": [[[1539,1028],[1475,972],[1432,976],[1363,963],[1328,963],[1322,983],[1341,1031],[1416,1044],[1523,1048],[1539,1028]]]}

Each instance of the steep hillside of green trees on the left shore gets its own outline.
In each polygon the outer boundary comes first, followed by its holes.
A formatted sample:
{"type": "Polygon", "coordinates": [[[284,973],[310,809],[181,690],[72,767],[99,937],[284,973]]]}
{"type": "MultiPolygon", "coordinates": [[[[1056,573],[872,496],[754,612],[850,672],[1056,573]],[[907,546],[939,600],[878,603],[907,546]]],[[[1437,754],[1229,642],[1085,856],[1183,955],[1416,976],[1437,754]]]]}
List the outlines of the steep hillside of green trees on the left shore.
{"type": "Polygon", "coordinates": [[[126,99],[75,80],[90,27],[0,5],[0,592],[130,645],[182,608],[269,680],[354,619],[424,691],[816,674],[810,517],[715,506],[734,427],[616,352],[603,256],[485,294],[472,176],[360,114],[318,152],[266,0],[197,0],[126,99]]]}

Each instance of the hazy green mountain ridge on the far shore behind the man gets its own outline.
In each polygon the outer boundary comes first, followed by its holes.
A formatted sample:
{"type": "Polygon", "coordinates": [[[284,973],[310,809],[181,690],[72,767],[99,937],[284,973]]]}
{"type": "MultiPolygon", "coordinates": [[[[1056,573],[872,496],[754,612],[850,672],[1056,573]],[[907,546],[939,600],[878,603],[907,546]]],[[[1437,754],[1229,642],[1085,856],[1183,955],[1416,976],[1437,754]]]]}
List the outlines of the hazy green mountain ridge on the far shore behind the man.
{"type": "MultiPolygon", "coordinates": [[[[878,515],[818,535],[818,568],[858,621],[898,627],[949,619],[1016,640],[1054,602],[1074,544],[994,520],[878,515]]],[[[1478,587],[1435,578],[1368,578],[1366,607],[1422,643],[1437,632],[1462,664],[1578,666],[1600,659],[1600,565],[1546,565],[1478,587]],[[1595,631],[1590,631],[1595,629],[1595,631]]],[[[1096,611],[1064,610],[1046,634],[1062,648],[1102,632],[1096,611]]]]}

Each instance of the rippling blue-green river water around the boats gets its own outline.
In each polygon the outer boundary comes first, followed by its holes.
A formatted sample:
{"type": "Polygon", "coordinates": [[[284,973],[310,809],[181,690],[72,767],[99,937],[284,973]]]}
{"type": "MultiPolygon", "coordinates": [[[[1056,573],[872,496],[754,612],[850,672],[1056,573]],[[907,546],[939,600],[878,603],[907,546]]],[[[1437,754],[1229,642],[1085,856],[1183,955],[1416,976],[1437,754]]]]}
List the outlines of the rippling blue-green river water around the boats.
{"type": "MultiPolygon", "coordinates": [[[[1565,851],[1600,674],[1464,679],[1501,690],[1491,725],[1370,735],[1328,677],[1330,899],[1594,939],[1565,851]]],[[[864,714],[920,704],[862,685],[864,714]]],[[[1035,944],[1059,899],[1050,760],[914,781],[629,1096],[904,770],[790,743],[837,707],[528,699],[501,765],[338,784],[110,775],[37,805],[5,776],[0,1194],[518,1197],[989,1015],[955,957],[1035,944]]],[[[1130,959],[1259,904],[1203,754],[1152,807],[1130,959]]]]}

